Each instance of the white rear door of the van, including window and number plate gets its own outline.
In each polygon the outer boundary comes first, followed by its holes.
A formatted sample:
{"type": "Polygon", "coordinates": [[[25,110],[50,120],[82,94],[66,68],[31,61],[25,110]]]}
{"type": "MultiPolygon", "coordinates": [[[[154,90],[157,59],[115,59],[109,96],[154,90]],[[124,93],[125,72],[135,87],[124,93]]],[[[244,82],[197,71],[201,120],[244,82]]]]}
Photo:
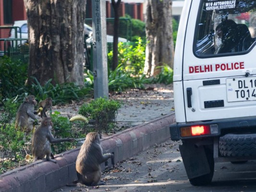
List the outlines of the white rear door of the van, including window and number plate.
{"type": "Polygon", "coordinates": [[[255,0],[194,0],[190,10],[183,48],[186,121],[256,116],[255,0]]]}

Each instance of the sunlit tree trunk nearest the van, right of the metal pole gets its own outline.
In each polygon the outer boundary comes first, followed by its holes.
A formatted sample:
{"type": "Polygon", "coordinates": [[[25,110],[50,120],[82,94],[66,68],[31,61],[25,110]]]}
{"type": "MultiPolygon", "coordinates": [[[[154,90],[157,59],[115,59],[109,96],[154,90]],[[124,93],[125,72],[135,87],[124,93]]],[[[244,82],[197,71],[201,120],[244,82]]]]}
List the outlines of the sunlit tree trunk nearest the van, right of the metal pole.
{"type": "Polygon", "coordinates": [[[161,72],[158,66],[173,68],[171,0],[146,1],[146,62],[144,71],[152,76],[161,72]]]}

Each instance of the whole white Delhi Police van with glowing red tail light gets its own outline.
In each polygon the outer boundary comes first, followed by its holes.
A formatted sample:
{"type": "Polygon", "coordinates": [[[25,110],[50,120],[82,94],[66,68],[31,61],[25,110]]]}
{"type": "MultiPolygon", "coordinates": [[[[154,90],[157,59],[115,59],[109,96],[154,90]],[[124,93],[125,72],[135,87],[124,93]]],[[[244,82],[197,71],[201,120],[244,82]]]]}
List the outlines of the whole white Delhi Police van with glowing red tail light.
{"type": "Polygon", "coordinates": [[[185,0],[173,71],[171,139],[191,184],[256,159],[256,1],[185,0]]]}

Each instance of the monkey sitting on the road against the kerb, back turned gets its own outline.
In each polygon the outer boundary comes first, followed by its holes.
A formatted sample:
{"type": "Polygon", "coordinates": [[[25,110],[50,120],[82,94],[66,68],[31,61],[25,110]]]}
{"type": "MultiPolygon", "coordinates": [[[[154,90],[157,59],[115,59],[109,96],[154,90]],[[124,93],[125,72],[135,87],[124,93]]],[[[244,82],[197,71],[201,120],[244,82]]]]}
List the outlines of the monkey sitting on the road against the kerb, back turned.
{"type": "Polygon", "coordinates": [[[111,153],[103,154],[100,146],[100,138],[97,132],[89,132],[85,137],[85,142],[81,146],[76,159],[75,168],[78,180],[67,186],[75,186],[76,183],[96,186],[104,185],[105,182],[100,180],[100,164],[111,158],[113,162],[114,155],[111,153]]]}

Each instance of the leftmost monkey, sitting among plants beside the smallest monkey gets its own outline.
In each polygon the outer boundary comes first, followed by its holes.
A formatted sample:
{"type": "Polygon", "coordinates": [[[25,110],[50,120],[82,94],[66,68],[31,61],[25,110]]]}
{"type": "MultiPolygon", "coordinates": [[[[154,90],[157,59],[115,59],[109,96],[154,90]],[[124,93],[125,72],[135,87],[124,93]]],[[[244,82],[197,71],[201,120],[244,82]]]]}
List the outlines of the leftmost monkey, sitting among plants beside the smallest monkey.
{"type": "Polygon", "coordinates": [[[32,131],[33,121],[35,120],[38,123],[37,117],[34,114],[35,105],[37,105],[35,96],[25,97],[16,114],[16,129],[20,128],[26,134],[32,131]],[[29,117],[31,118],[30,120],[28,119],[29,117]]]}

